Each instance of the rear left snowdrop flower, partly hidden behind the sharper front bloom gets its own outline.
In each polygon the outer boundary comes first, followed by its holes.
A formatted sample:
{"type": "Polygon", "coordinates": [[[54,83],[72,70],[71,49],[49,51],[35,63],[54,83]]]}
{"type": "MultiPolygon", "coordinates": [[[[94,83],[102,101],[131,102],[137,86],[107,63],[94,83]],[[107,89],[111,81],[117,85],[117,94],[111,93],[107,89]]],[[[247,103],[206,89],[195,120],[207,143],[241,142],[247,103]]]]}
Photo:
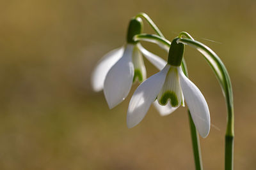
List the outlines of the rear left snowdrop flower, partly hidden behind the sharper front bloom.
{"type": "MultiPolygon", "coordinates": [[[[142,82],[147,77],[141,53],[159,69],[166,64],[166,61],[148,52],[138,41],[133,40],[134,35],[141,34],[142,29],[141,18],[132,18],[127,32],[127,44],[107,53],[93,71],[93,90],[104,90],[109,108],[114,108],[124,101],[134,81],[142,82]]],[[[172,111],[170,106],[157,103],[155,105],[162,115],[172,111]]]]}

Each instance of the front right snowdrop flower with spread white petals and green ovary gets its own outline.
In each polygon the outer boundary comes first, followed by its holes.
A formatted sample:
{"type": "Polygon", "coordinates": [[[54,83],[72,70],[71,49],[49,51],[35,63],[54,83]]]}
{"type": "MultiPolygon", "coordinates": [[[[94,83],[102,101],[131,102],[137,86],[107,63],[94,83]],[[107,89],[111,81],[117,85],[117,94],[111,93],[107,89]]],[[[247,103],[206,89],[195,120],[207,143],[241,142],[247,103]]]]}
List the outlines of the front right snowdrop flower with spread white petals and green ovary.
{"type": "Polygon", "coordinates": [[[127,126],[139,124],[152,103],[170,104],[174,111],[184,106],[185,100],[196,129],[205,138],[210,131],[209,108],[200,90],[182,71],[184,45],[177,43],[177,39],[172,41],[166,66],[143,81],[134,92],[127,111],[127,126]]]}

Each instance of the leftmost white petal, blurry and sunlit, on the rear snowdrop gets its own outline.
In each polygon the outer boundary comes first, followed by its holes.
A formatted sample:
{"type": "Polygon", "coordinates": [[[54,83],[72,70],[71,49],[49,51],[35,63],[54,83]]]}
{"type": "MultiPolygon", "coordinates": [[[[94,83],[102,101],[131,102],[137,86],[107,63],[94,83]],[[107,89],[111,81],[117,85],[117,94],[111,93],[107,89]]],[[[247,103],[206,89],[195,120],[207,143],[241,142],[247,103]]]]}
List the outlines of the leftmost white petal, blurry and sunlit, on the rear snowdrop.
{"type": "Polygon", "coordinates": [[[103,89],[104,81],[109,69],[122,57],[123,53],[124,47],[122,46],[108,52],[99,60],[92,73],[91,82],[93,90],[99,92],[103,89]]]}

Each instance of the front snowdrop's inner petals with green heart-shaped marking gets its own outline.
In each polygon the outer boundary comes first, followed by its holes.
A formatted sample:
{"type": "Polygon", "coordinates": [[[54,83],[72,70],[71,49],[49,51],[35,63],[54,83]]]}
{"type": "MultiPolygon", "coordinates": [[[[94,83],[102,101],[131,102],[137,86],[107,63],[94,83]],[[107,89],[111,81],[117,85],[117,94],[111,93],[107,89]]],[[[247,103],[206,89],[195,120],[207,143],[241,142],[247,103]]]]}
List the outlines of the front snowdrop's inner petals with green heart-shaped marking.
{"type": "Polygon", "coordinates": [[[171,66],[165,81],[164,85],[157,95],[157,101],[161,105],[166,105],[168,102],[172,107],[179,107],[183,103],[183,94],[180,87],[179,74],[177,67],[171,66]]]}

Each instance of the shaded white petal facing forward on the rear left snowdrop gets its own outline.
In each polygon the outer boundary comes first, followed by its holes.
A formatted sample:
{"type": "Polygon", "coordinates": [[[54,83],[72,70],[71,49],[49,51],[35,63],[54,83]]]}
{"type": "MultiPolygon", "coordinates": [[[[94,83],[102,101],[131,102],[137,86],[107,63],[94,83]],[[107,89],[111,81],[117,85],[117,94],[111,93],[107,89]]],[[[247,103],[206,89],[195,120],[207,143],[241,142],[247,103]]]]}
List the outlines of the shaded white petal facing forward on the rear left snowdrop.
{"type": "Polygon", "coordinates": [[[104,82],[104,95],[109,108],[114,108],[124,101],[129,94],[134,76],[134,66],[132,64],[132,51],[134,45],[125,47],[124,55],[109,70],[104,82]]]}

